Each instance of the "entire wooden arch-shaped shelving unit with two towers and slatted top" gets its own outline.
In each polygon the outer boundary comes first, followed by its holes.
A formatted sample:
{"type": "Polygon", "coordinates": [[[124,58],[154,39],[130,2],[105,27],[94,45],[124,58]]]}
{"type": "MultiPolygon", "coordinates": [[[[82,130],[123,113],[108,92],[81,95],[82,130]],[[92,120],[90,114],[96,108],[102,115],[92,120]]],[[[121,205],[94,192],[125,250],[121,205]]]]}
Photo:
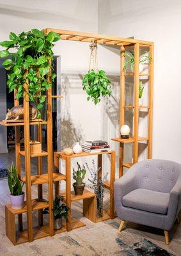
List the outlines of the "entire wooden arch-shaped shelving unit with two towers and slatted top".
{"type": "MultiPolygon", "coordinates": [[[[120,103],[120,124],[124,123],[124,110],[126,108],[134,109],[134,137],[130,138],[127,141],[120,140],[120,138],[115,138],[115,141],[120,143],[120,175],[122,175],[122,166],[131,166],[130,163],[123,164],[122,163],[122,154],[123,154],[123,144],[124,143],[133,143],[134,144],[134,163],[138,161],[138,141],[146,140],[148,141],[148,157],[152,155],[152,85],[153,85],[153,43],[146,42],[143,40],[136,40],[132,38],[122,38],[116,36],[107,36],[107,35],[97,35],[91,33],[82,33],[76,31],[68,31],[62,29],[44,29],[44,33],[47,34],[51,31],[59,33],[61,35],[62,40],[71,40],[77,42],[97,42],[97,44],[103,45],[116,45],[121,48],[121,62],[122,67],[124,63],[124,56],[123,52],[125,51],[125,47],[127,45],[134,45],[135,51],[135,68],[134,72],[126,74],[124,70],[121,70],[121,103],[120,103]],[[152,57],[152,62],[150,64],[149,74],[139,74],[139,46],[148,46],[150,49],[150,56],[152,57]],[[134,105],[132,106],[125,106],[125,98],[124,98],[124,88],[125,88],[125,77],[130,76],[134,77],[134,105]],[[140,106],[140,108],[148,110],[149,115],[149,129],[148,129],[148,138],[138,138],[138,113],[139,113],[139,106],[138,106],[138,83],[139,77],[142,79],[148,79],[150,83],[150,100],[148,106],[140,106]]],[[[48,80],[51,79],[51,73],[48,74],[48,80]]],[[[54,234],[58,234],[61,232],[70,231],[71,229],[83,227],[84,223],[79,220],[75,220],[75,218],[71,218],[71,202],[74,200],[83,200],[83,214],[86,218],[97,222],[107,220],[108,218],[114,218],[114,172],[115,172],[115,154],[113,151],[111,152],[101,152],[97,154],[89,154],[83,152],[81,156],[91,156],[97,155],[98,157],[98,166],[102,166],[102,154],[111,154],[111,179],[110,181],[106,182],[106,188],[109,188],[110,191],[110,209],[109,214],[104,213],[102,219],[97,220],[95,218],[95,195],[90,193],[90,191],[84,191],[84,195],[81,198],[78,198],[71,193],[70,189],[70,159],[72,157],[80,157],[80,155],[74,154],[73,156],[67,157],[64,156],[62,153],[57,152],[54,157],[54,164],[55,164],[55,172],[53,172],[53,159],[52,159],[52,99],[61,98],[61,95],[52,95],[51,87],[47,90],[47,120],[29,120],[29,97],[28,97],[28,89],[29,89],[29,81],[28,79],[24,83],[24,120],[19,120],[18,122],[0,122],[0,125],[4,126],[14,126],[15,127],[15,159],[16,159],[16,166],[21,177],[21,170],[20,170],[20,156],[23,157],[25,161],[25,171],[26,176],[22,177],[22,180],[26,182],[26,202],[24,207],[20,211],[13,211],[10,205],[5,206],[5,218],[6,218],[6,236],[12,241],[13,244],[20,244],[25,243],[27,241],[31,242],[34,239],[46,237],[46,236],[54,236],[54,234]],[[20,150],[20,126],[24,126],[24,151],[20,150]],[[42,125],[47,125],[47,151],[42,151],[40,154],[30,154],[30,147],[29,147],[29,126],[36,125],[37,127],[37,141],[42,143],[42,125]],[[31,157],[38,158],[38,171],[37,175],[31,175],[31,157]],[[42,172],[42,157],[47,157],[47,173],[42,172]],[[58,159],[59,157],[65,159],[66,161],[66,174],[63,175],[59,173],[58,169],[58,159]],[[68,174],[67,174],[68,173],[68,174]],[[43,225],[43,216],[42,216],[42,209],[44,207],[49,207],[49,209],[53,208],[53,201],[54,201],[54,193],[53,193],[53,184],[55,185],[55,195],[59,195],[59,181],[65,180],[66,182],[66,195],[65,200],[67,202],[67,206],[70,208],[68,211],[68,221],[64,223],[63,228],[60,230],[54,230],[54,216],[53,212],[49,211],[49,224],[43,225]],[[31,196],[31,186],[37,186],[38,189],[38,198],[43,198],[43,190],[42,185],[47,183],[48,184],[48,201],[49,204],[46,202],[38,202],[36,199],[33,199],[31,196]],[[33,227],[33,211],[38,211],[38,227],[33,227]],[[22,223],[22,214],[27,214],[27,229],[23,227],[22,223]],[[15,215],[18,216],[18,230],[15,228],[15,215]],[[65,225],[66,224],[66,225],[65,225]]],[[[16,92],[15,92],[16,94],[16,92]]],[[[18,106],[19,101],[14,100],[14,105],[18,106]]],[[[102,172],[99,172],[98,175],[102,175],[102,172]]]]}

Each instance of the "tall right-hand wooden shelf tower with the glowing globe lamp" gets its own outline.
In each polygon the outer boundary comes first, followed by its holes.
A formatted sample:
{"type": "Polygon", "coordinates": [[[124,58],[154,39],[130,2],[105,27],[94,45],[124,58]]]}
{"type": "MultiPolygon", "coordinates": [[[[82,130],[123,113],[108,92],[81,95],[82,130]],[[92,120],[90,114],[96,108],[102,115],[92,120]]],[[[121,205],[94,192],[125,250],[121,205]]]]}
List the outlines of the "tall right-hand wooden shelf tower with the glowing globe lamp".
{"type": "Polygon", "coordinates": [[[120,68],[120,127],[125,124],[125,109],[132,109],[134,116],[133,136],[127,140],[122,138],[113,138],[111,140],[120,143],[119,150],[119,177],[123,175],[123,167],[130,168],[132,164],[138,162],[138,143],[146,141],[148,144],[148,158],[152,158],[152,115],[153,115],[153,44],[132,44],[134,48],[134,72],[126,72],[123,68],[125,65],[126,46],[121,46],[121,68],[120,68]],[[150,56],[149,73],[139,73],[139,52],[141,47],[148,47],[150,56]],[[125,79],[126,77],[134,78],[134,104],[125,105],[125,79]],[[139,106],[139,79],[148,80],[148,106],[139,106]],[[148,138],[139,137],[139,111],[144,110],[148,114],[148,138]],[[123,163],[124,144],[132,143],[133,145],[133,163],[123,163]]]}

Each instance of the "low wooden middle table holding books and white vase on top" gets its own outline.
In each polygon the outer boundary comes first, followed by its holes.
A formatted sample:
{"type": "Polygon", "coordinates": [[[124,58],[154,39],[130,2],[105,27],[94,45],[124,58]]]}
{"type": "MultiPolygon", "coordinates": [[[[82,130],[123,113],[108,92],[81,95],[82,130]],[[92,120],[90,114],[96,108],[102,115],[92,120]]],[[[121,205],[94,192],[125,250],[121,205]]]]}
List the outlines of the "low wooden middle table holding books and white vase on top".
{"type": "MultiPolygon", "coordinates": [[[[109,150],[105,152],[99,153],[87,153],[82,152],[81,154],[73,154],[72,156],[66,156],[63,152],[55,152],[54,153],[54,166],[55,172],[59,172],[59,158],[65,160],[65,182],[66,182],[66,204],[70,210],[68,210],[68,220],[67,220],[67,231],[72,230],[75,227],[82,227],[83,225],[71,225],[71,201],[81,200],[83,199],[83,215],[86,218],[89,218],[93,222],[104,221],[109,218],[114,218],[114,180],[115,180],[115,151],[109,150]],[[75,157],[87,157],[87,156],[97,156],[97,167],[98,167],[98,175],[102,177],[102,155],[109,154],[111,157],[111,172],[110,172],[110,180],[105,182],[106,188],[110,191],[110,207],[109,214],[104,212],[104,216],[101,219],[95,219],[95,213],[93,212],[93,207],[95,207],[95,194],[84,189],[87,197],[85,198],[85,193],[83,196],[75,196],[71,193],[71,159],[75,157]],[[94,199],[93,199],[94,198],[94,199]]],[[[55,194],[59,195],[59,181],[55,182],[55,194]]],[[[75,220],[75,219],[74,219],[75,220]]],[[[79,221],[80,223],[81,221],[79,221]]]]}

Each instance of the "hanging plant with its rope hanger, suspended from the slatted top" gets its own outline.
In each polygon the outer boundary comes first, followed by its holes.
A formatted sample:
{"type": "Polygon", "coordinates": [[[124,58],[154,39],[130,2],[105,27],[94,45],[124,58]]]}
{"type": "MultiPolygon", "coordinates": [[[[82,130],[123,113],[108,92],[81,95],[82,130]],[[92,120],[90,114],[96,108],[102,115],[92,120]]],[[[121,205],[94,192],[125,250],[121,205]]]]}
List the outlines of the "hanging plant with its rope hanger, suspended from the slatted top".
{"type": "Polygon", "coordinates": [[[97,44],[90,45],[90,68],[88,74],[83,78],[83,90],[88,94],[87,100],[94,104],[100,102],[100,97],[111,96],[111,81],[104,70],[97,69],[97,44]]]}

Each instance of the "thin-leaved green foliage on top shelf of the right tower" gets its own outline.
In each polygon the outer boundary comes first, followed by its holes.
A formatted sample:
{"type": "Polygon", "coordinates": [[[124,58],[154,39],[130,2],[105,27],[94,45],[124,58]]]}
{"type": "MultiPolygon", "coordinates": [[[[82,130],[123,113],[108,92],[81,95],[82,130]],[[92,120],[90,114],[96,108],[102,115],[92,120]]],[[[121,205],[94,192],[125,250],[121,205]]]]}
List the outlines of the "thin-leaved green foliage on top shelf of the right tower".
{"type": "MultiPolygon", "coordinates": [[[[146,56],[148,51],[141,52],[141,57],[139,58],[139,63],[144,63],[146,60],[151,60],[150,56],[146,56]]],[[[130,65],[130,69],[133,70],[134,68],[134,50],[126,51],[125,56],[128,57],[128,60],[125,61],[124,69],[127,70],[127,65],[130,65]]]]}

